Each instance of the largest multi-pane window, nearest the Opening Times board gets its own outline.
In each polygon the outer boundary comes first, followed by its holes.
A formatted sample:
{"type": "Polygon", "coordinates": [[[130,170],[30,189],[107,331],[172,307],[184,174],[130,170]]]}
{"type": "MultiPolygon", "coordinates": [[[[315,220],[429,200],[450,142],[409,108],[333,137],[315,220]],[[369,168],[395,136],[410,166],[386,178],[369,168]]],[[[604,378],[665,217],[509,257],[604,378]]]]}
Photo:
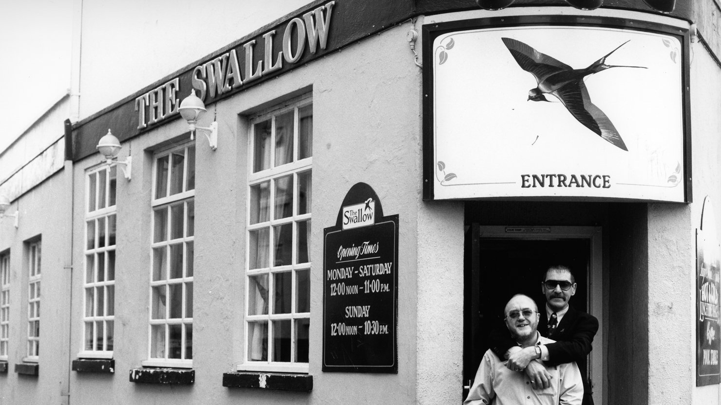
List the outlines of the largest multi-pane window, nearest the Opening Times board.
{"type": "Polygon", "coordinates": [[[244,370],[308,371],[313,106],[251,119],[244,370]]]}

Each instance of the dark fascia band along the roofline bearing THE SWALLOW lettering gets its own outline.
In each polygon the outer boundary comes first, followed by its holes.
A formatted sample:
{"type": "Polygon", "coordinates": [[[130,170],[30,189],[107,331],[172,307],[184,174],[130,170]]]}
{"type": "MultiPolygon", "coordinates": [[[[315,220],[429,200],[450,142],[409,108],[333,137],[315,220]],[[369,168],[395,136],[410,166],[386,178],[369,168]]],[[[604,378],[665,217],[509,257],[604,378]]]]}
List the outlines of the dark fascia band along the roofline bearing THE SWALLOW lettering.
{"type": "MultiPolygon", "coordinates": [[[[517,0],[514,6],[531,6],[537,3],[538,0],[517,0]]],[[[565,1],[559,0],[557,3],[568,6],[565,1]]],[[[672,17],[691,18],[689,6],[683,3],[685,2],[677,4],[676,10],[670,14],[672,17]]],[[[642,12],[649,11],[642,0],[618,0],[616,6],[642,12]]],[[[267,24],[102,111],[76,122],[72,127],[72,137],[67,141],[66,155],[72,160],[80,160],[97,153],[95,146],[108,129],[111,129],[113,135],[123,142],[180,118],[177,112],[180,101],[189,95],[193,88],[198,92],[198,96],[201,96],[207,108],[216,101],[257,86],[312,60],[335,53],[389,27],[408,24],[410,29],[411,19],[420,14],[464,10],[479,10],[479,7],[473,0],[312,1],[296,12],[267,24]],[[311,22],[312,27],[309,27],[311,22]],[[323,29],[326,31],[322,36],[323,29]],[[314,39],[309,39],[309,30],[314,33],[311,35],[315,36],[314,39]],[[288,32],[291,46],[286,50],[283,48],[283,42],[288,32]],[[305,41],[300,41],[298,35],[304,37],[305,41]],[[323,41],[324,46],[322,46],[323,41]],[[314,52],[311,49],[311,42],[315,44],[314,52]],[[302,52],[299,51],[301,46],[302,52]],[[278,53],[281,51],[283,65],[278,65],[276,68],[278,53]],[[247,55],[251,58],[247,58],[247,55]],[[234,73],[238,74],[234,77],[234,73]]]]}

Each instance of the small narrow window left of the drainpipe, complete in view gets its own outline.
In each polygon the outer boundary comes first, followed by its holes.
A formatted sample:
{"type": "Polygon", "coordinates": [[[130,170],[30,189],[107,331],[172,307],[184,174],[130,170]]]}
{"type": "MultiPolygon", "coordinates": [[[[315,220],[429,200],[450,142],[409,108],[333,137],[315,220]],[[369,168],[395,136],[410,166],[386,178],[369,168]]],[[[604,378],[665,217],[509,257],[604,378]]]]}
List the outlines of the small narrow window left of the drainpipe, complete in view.
{"type": "Polygon", "coordinates": [[[30,242],[27,278],[27,359],[40,355],[40,241],[30,242]]]}

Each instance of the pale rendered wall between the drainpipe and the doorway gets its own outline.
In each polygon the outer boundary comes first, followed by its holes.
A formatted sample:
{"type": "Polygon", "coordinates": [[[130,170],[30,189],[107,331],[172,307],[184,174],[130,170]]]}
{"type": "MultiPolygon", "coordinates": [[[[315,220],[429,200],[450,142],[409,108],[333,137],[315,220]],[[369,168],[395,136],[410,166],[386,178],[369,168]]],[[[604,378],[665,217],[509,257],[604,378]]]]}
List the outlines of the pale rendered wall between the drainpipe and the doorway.
{"type": "MultiPolygon", "coordinates": [[[[192,404],[337,404],[348,401],[416,404],[420,401],[417,398],[420,394],[416,392],[419,381],[426,386],[423,388],[424,403],[438,403],[439,398],[449,398],[451,402],[459,400],[462,208],[460,204],[443,203],[426,206],[421,201],[421,78],[405,39],[406,32],[407,27],[390,29],[217,105],[218,150],[211,151],[203,135],[196,142],[193,386],[128,382],[128,370],[139,367],[146,359],[148,344],[151,153],[145,149],[182,135],[187,126],[176,119],[123,145],[120,158],[131,150],[134,167],[132,181],[118,179],[116,372],[114,376],[71,373],[74,404],[96,403],[97,392],[124,402],[154,404],[174,404],[180,399],[192,404]],[[314,108],[309,365],[314,388],[311,393],[224,388],[221,386],[222,373],[235,370],[243,354],[248,158],[244,117],[257,111],[259,106],[272,106],[288,94],[297,95],[304,91],[312,91],[314,108]],[[384,214],[399,214],[398,374],[322,372],[323,228],[335,224],[343,197],[359,181],[375,189],[384,214]],[[447,207],[451,210],[447,211],[447,207]],[[418,251],[421,244],[430,245],[430,248],[424,247],[426,251],[421,253],[418,251]],[[418,272],[420,260],[427,260],[423,264],[423,275],[418,272]],[[445,274],[446,269],[449,276],[445,274]],[[420,283],[424,283],[423,287],[420,283]],[[456,287],[459,295],[443,296],[440,288],[428,290],[428,286],[438,283],[456,287]],[[419,288],[423,291],[419,292],[419,288]],[[420,311],[417,300],[420,295],[435,300],[423,304],[424,311],[430,311],[428,317],[443,319],[446,323],[431,325],[430,321],[424,321],[425,326],[433,326],[433,329],[425,329],[424,336],[417,338],[416,323],[420,311]],[[438,305],[441,299],[446,300],[443,304],[448,306],[438,305]],[[438,331],[457,342],[439,345],[438,331]],[[423,372],[416,365],[417,345],[421,343],[425,357],[423,372]],[[434,364],[434,374],[428,375],[434,364]],[[448,376],[457,381],[438,381],[436,376],[448,376]]],[[[215,109],[215,106],[211,107],[211,111],[215,109]]],[[[205,125],[210,120],[205,117],[200,124],[205,125]]],[[[77,163],[76,182],[82,184],[85,168],[95,163],[99,163],[95,156],[77,163]]],[[[83,194],[84,191],[76,188],[76,201],[84,201],[83,194]]],[[[80,240],[83,237],[81,218],[82,208],[78,206],[75,237],[80,240]]],[[[76,248],[75,260],[82,263],[79,248],[76,248]]],[[[82,288],[80,275],[74,278],[74,288],[76,291],[82,288]]],[[[81,324],[77,320],[81,302],[81,295],[76,294],[72,356],[81,347],[81,324]]]]}

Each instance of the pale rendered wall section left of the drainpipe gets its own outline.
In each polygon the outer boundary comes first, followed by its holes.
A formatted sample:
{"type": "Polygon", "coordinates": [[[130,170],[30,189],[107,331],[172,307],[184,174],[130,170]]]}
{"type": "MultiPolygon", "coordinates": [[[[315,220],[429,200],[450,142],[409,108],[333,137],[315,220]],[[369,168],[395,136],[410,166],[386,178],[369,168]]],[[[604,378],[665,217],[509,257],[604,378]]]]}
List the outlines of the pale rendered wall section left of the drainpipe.
{"type": "Polygon", "coordinates": [[[13,218],[0,219],[0,251],[10,249],[10,330],[8,372],[0,375],[0,404],[59,404],[66,392],[70,270],[65,269],[68,247],[66,177],[60,171],[13,202],[13,218]],[[50,203],[50,204],[48,204],[50,203]],[[40,373],[21,376],[15,364],[27,355],[27,256],[24,242],[42,238],[40,279],[40,373]]]}

